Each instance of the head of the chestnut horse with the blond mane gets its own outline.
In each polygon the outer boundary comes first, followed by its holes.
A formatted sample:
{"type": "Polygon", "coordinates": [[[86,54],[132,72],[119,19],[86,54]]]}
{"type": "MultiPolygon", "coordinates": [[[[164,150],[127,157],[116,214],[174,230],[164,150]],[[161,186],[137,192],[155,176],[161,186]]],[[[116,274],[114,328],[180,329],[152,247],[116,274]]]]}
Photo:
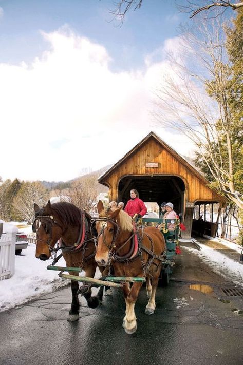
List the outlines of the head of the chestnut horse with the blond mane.
{"type": "Polygon", "coordinates": [[[104,209],[103,203],[98,202],[99,218],[96,220],[97,253],[95,259],[100,266],[106,266],[109,253],[115,251],[116,244],[121,238],[122,230],[132,230],[131,218],[121,208],[104,209]],[[123,217],[124,215],[124,217],[123,217]],[[124,226],[124,223],[126,226],[124,226]],[[124,227],[123,227],[124,226],[124,227]]]}

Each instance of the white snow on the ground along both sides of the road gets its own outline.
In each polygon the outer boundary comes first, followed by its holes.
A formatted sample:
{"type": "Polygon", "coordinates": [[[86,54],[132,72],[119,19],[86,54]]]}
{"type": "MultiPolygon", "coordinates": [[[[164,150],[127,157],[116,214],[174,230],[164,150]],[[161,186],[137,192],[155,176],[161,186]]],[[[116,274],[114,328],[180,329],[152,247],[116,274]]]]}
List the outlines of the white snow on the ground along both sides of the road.
{"type": "MultiPolygon", "coordinates": [[[[31,227],[21,228],[26,233],[31,232],[31,227]]],[[[233,243],[222,242],[239,252],[241,248],[233,243]]],[[[188,248],[191,252],[199,255],[209,264],[213,271],[233,281],[236,285],[243,283],[243,264],[227,258],[214,249],[200,243],[201,251],[188,248]]],[[[0,312],[6,311],[24,302],[50,293],[58,287],[68,284],[68,280],[58,277],[58,272],[46,270],[52,260],[40,261],[35,258],[35,245],[30,244],[22,251],[20,256],[15,256],[15,273],[7,280],[0,280],[0,312]]],[[[59,260],[60,266],[65,266],[63,258],[59,260]]]]}

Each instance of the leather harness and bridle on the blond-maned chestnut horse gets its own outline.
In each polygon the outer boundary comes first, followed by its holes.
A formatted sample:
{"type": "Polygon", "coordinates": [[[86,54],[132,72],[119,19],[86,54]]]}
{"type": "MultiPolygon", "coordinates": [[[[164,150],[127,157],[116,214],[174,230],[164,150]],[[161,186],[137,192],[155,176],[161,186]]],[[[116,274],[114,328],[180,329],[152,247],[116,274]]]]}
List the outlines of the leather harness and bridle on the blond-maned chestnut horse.
{"type": "MultiPolygon", "coordinates": [[[[127,263],[128,264],[128,263],[136,260],[138,257],[140,257],[145,274],[148,273],[149,268],[151,267],[151,265],[153,263],[156,265],[156,263],[154,262],[155,259],[158,259],[159,261],[165,261],[165,252],[162,255],[155,254],[154,253],[154,243],[153,243],[152,238],[144,232],[144,227],[139,229],[135,223],[134,223],[134,232],[132,233],[132,235],[130,237],[128,237],[128,239],[125,242],[123,242],[122,245],[118,249],[111,252],[111,249],[116,248],[115,242],[116,242],[118,234],[120,233],[119,225],[118,225],[117,221],[111,217],[97,218],[92,222],[92,224],[94,224],[94,222],[99,222],[99,221],[103,222],[103,223],[101,225],[101,231],[100,231],[99,235],[97,236],[96,242],[98,242],[99,237],[102,236],[104,244],[109,248],[110,260],[113,259],[113,261],[115,261],[117,263],[127,263]],[[106,242],[105,237],[104,237],[104,230],[107,227],[107,221],[114,224],[114,234],[113,234],[113,239],[110,244],[108,244],[106,242]],[[140,232],[142,232],[142,235],[140,235],[140,232]],[[142,244],[144,235],[149,239],[149,241],[151,243],[151,249],[145,247],[142,244]],[[118,252],[129,241],[132,241],[129,252],[124,256],[120,256],[118,254],[118,252]],[[143,262],[144,260],[142,260],[142,251],[145,251],[150,257],[147,262],[143,262]]],[[[96,243],[96,245],[97,245],[97,243],[96,243]]]]}

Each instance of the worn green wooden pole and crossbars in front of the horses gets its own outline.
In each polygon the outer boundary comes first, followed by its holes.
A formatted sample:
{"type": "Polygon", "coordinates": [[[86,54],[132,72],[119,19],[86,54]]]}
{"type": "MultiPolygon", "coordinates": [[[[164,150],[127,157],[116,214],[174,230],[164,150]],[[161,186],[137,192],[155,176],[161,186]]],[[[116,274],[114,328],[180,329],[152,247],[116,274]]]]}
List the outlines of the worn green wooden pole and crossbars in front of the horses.
{"type": "Polygon", "coordinates": [[[123,282],[145,282],[145,278],[133,278],[133,277],[113,277],[113,276],[107,276],[105,280],[95,279],[95,278],[89,278],[86,276],[75,276],[70,274],[63,274],[64,271],[68,272],[82,272],[82,269],[80,267],[63,267],[63,266],[47,266],[47,270],[54,270],[54,271],[60,271],[58,274],[59,277],[70,279],[70,280],[76,280],[76,281],[82,281],[82,282],[88,282],[94,285],[98,286],[111,286],[111,287],[122,287],[123,282]],[[120,283],[114,282],[119,281],[120,283]]]}

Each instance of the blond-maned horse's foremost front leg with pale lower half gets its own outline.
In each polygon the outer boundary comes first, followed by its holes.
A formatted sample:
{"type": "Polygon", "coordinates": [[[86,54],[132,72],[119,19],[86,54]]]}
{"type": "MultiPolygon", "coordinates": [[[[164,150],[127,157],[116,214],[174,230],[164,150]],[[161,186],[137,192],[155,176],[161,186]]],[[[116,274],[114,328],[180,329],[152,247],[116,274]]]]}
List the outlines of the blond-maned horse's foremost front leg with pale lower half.
{"type": "Polygon", "coordinates": [[[135,303],[138,298],[138,293],[141,289],[142,283],[135,282],[133,283],[132,289],[130,290],[127,298],[125,298],[126,302],[126,316],[124,323],[124,330],[128,335],[136,332],[137,330],[137,320],[134,311],[135,303]]]}

